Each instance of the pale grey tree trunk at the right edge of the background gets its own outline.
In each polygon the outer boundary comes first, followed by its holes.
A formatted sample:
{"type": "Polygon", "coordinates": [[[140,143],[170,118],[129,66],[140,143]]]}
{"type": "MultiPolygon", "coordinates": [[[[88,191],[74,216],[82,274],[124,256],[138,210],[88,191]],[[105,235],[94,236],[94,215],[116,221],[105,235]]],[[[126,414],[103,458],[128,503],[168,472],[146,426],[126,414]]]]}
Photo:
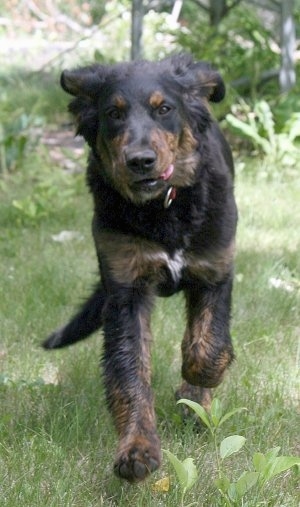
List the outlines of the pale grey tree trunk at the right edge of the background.
{"type": "Polygon", "coordinates": [[[296,46],[293,0],[281,2],[281,69],[279,82],[282,92],[288,92],[296,83],[294,51],[296,46]]]}

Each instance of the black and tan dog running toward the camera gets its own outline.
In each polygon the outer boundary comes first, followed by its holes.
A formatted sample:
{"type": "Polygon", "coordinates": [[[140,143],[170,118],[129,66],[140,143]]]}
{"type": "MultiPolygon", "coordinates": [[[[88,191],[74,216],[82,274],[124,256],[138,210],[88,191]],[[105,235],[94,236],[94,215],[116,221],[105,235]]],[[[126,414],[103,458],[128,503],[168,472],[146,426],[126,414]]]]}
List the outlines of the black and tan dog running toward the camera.
{"type": "Polygon", "coordinates": [[[234,166],[209,108],[225,86],[208,63],[185,54],[66,70],[61,85],[90,147],[101,282],[43,345],[64,347],[103,328],[105,392],[119,435],[114,471],[136,482],[161,463],[150,387],[155,296],[185,296],[177,398],[209,407],[234,357],[234,166]]]}

